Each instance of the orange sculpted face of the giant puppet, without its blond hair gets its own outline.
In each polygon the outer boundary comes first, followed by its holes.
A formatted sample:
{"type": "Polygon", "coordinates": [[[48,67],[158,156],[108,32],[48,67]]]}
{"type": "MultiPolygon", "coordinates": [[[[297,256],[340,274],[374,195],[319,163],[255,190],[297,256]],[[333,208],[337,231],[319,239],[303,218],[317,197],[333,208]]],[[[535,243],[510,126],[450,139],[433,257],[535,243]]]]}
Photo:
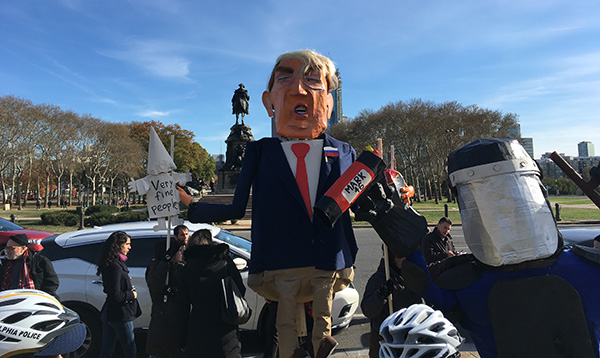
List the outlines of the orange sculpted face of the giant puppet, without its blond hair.
{"type": "Polygon", "coordinates": [[[293,139],[313,139],[327,129],[333,96],[322,71],[304,73],[302,61],[282,60],[275,68],[273,88],[263,93],[269,116],[275,115],[277,134],[293,139]]]}

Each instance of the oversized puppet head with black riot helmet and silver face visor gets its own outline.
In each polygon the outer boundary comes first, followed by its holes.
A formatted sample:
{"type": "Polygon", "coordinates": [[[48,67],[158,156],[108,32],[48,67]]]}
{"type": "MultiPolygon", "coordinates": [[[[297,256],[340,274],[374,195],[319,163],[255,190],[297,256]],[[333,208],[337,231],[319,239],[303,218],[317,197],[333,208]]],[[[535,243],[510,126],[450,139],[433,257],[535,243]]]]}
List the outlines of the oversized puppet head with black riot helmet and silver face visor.
{"type": "Polygon", "coordinates": [[[475,140],[448,156],[465,241],[484,264],[551,256],[559,237],[540,170],[511,138],[475,140]]]}

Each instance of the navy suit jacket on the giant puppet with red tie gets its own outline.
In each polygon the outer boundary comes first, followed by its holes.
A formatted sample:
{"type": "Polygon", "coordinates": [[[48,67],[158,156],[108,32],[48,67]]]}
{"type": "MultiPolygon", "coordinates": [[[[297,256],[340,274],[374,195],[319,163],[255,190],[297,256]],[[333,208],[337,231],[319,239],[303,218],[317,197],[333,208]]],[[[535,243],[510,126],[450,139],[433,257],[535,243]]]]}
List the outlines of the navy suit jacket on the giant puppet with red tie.
{"type": "MultiPolygon", "coordinates": [[[[339,157],[322,155],[316,200],[356,159],[347,143],[322,136],[323,147],[339,157]]],[[[317,216],[310,220],[302,195],[278,138],[248,142],[233,202],[191,204],[191,222],[225,221],[244,216],[252,189],[252,260],[250,273],[315,266],[322,270],[352,267],[358,246],[346,212],[333,228],[317,216]]]]}

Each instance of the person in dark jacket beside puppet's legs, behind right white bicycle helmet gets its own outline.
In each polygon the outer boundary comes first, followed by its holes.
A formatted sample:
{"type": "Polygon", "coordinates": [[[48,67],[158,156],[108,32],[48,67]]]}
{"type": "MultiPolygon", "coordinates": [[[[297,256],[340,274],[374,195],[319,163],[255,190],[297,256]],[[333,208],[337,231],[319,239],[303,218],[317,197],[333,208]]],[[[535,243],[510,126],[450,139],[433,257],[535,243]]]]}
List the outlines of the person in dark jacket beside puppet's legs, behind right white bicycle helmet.
{"type": "Polygon", "coordinates": [[[369,334],[369,357],[379,357],[379,335],[381,323],[393,312],[390,312],[388,297],[392,295],[394,312],[409,307],[415,303],[422,303],[421,297],[404,287],[404,279],[400,267],[405,258],[390,256],[390,279],[385,279],[385,261],[382,258],[377,271],[369,278],[365,287],[365,294],[360,303],[360,309],[371,320],[369,334]]]}

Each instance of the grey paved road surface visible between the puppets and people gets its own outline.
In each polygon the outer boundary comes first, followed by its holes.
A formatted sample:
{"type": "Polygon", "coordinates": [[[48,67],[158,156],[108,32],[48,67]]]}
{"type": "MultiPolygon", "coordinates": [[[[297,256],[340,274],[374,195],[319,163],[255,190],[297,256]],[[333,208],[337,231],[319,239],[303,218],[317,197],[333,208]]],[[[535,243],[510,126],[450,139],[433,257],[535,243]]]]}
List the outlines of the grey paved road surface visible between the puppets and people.
{"type": "MultiPolygon", "coordinates": [[[[600,228],[600,225],[560,225],[559,228],[600,228]]],[[[354,277],[354,285],[362,297],[365,291],[365,286],[369,277],[375,272],[379,265],[379,261],[382,257],[382,245],[379,236],[375,233],[372,228],[356,228],[354,229],[356,240],[358,242],[359,251],[356,258],[356,270],[354,277]]],[[[462,226],[454,226],[451,230],[455,246],[458,250],[468,252],[467,245],[464,240],[462,232],[462,226]]],[[[236,231],[237,235],[242,237],[250,238],[250,231],[236,231]]],[[[334,332],[335,339],[338,341],[339,346],[336,348],[336,357],[341,356],[363,356],[366,355],[366,348],[369,346],[369,320],[362,314],[360,307],[358,308],[355,318],[350,326],[340,332],[334,332]]],[[[257,356],[260,357],[260,348],[252,346],[255,341],[254,337],[250,335],[248,338],[243,339],[245,342],[245,354],[246,357],[257,356]]],[[[467,344],[463,347],[465,350],[473,350],[474,346],[467,344]]]]}

